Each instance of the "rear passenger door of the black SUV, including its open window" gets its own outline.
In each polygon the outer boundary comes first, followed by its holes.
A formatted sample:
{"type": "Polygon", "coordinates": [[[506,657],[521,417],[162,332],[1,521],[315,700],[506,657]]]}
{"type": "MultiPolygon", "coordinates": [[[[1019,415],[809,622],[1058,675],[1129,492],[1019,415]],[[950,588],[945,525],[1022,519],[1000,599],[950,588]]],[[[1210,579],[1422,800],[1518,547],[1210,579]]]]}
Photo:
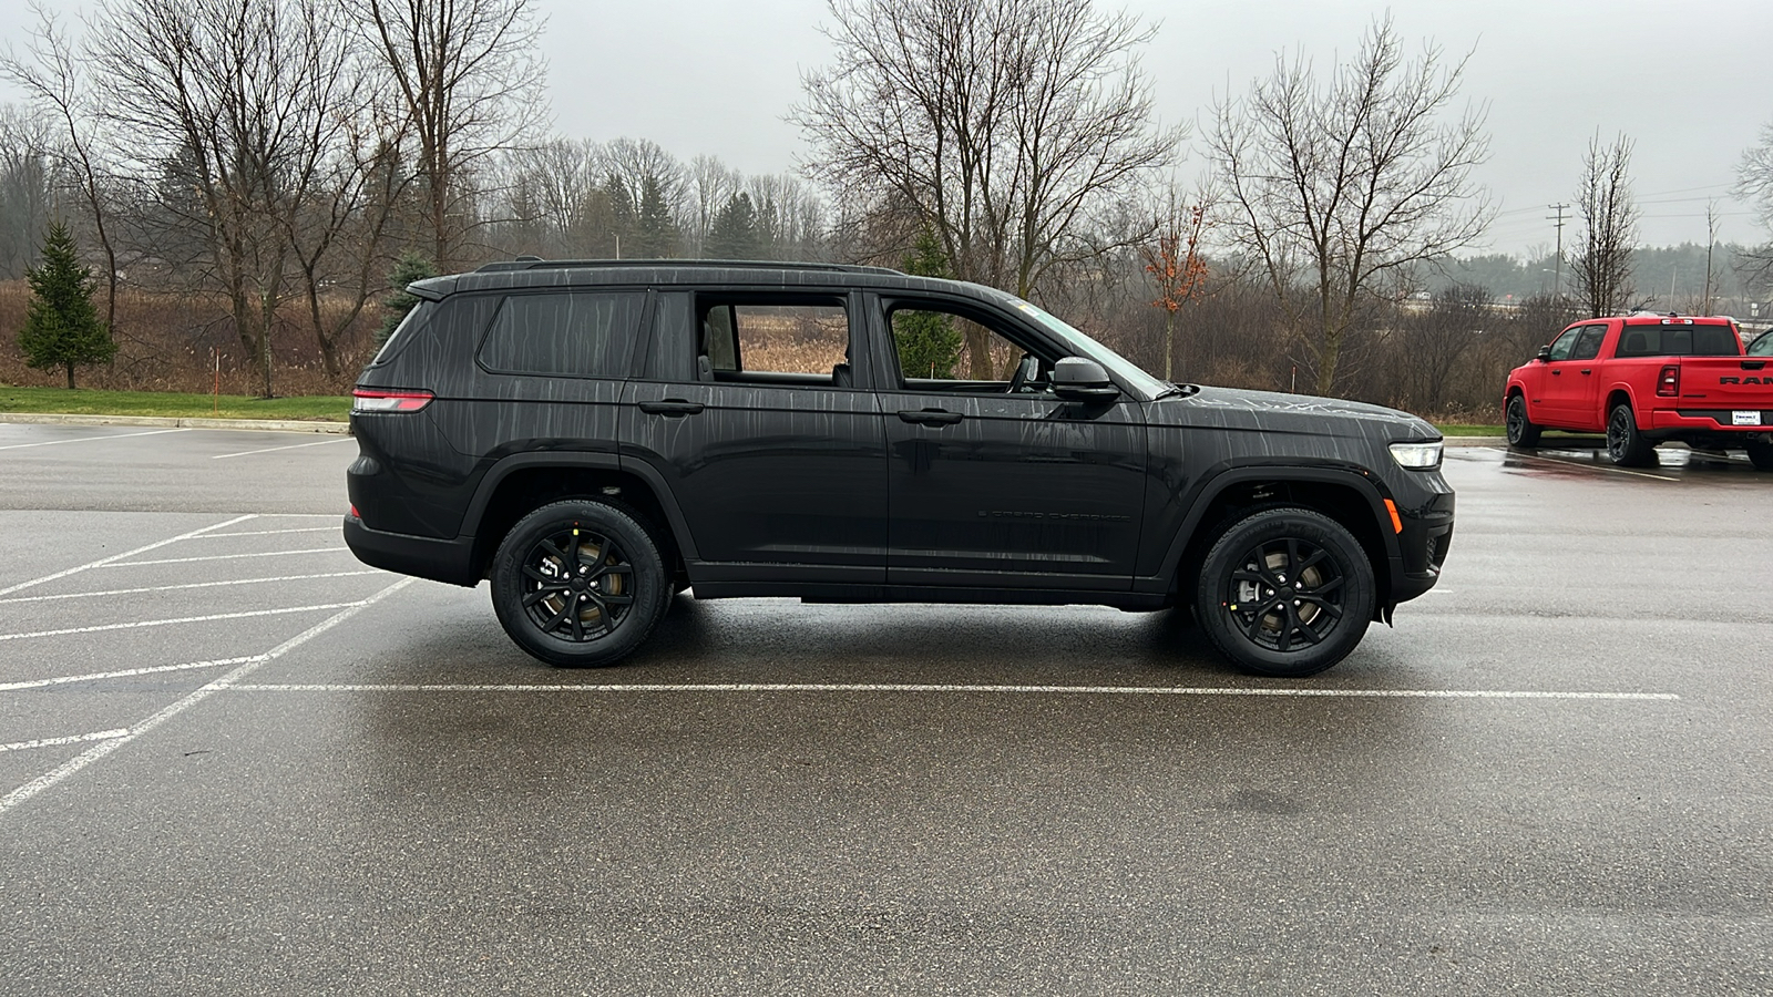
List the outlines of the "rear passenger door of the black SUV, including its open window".
{"type": "Polygon", "coordinates": [[[672,490],[706,582],[881,584],[886,444],[846,291],[661,291],[622,456],[672,490]]]}

